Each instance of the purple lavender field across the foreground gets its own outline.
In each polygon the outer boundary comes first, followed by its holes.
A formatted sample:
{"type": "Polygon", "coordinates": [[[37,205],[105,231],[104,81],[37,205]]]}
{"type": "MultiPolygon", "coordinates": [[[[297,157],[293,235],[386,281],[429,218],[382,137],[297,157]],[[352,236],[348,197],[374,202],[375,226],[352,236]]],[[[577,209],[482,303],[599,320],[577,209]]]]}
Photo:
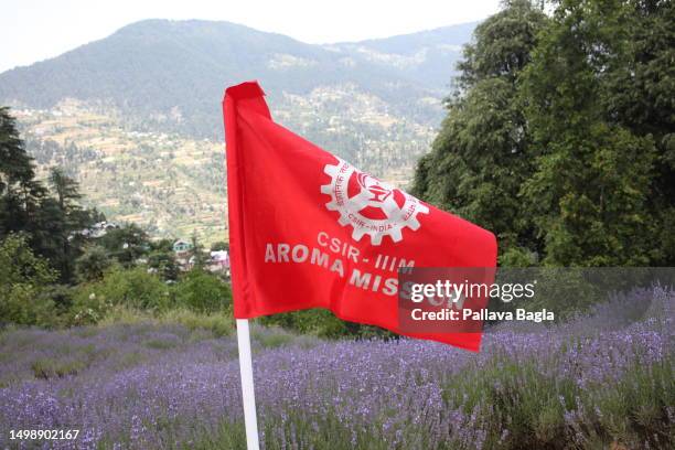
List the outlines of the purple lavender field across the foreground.
{"type": "MultiPolygon", "coordinates": [[[[555,328],[497,326],[479,354],[254,328],[264,448],[673,448],[674,304],[635,291],[555,328]]],[[[0,446],[242,449],[238,376],[235,336],[180,325],[6,330],[0,446]]]]}

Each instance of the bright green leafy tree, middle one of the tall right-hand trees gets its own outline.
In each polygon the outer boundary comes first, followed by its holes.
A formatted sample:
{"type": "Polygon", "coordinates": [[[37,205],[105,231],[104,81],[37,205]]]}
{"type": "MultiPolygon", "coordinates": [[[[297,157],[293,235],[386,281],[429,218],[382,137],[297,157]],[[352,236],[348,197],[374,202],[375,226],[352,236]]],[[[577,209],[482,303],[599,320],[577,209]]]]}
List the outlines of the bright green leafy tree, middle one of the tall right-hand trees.
{"type": "Polygon", "coordinates": [[[523,76],[534,173],[522,193],[545,264],[647,265],[661,257],[649,199],[656,152],[606,107],[624,64],[631,2],[565,0],[523,76]]]}

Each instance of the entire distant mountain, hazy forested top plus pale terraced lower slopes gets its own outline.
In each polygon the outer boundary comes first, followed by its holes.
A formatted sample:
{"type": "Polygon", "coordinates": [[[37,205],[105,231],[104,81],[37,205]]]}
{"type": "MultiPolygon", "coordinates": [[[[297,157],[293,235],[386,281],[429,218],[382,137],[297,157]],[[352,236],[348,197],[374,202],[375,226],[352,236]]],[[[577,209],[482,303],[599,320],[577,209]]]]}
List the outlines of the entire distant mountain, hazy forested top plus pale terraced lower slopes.
{"type": "Polygon", "coordinates": [[[260,81],[276,120],[405,185],[473,26],[310,45],[227,22],[147,20],[0,74],[0,104],[14,107],[40,173],[64,167],[109,218],[222,239],[227,85],[260,81]]]}

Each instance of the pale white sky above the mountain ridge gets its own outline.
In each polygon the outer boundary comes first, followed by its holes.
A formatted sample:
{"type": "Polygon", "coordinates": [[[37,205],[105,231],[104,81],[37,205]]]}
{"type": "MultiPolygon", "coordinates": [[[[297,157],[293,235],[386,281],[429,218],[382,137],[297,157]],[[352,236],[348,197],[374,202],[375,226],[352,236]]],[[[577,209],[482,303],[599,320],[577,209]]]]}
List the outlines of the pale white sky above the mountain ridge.
{"type": "Polygon", "coordinates": [[[0,72],[56,56],[142,19],[227,20],[310,43],[384,38],[470,22],[499,0],[8,0],[0,72]]]}

